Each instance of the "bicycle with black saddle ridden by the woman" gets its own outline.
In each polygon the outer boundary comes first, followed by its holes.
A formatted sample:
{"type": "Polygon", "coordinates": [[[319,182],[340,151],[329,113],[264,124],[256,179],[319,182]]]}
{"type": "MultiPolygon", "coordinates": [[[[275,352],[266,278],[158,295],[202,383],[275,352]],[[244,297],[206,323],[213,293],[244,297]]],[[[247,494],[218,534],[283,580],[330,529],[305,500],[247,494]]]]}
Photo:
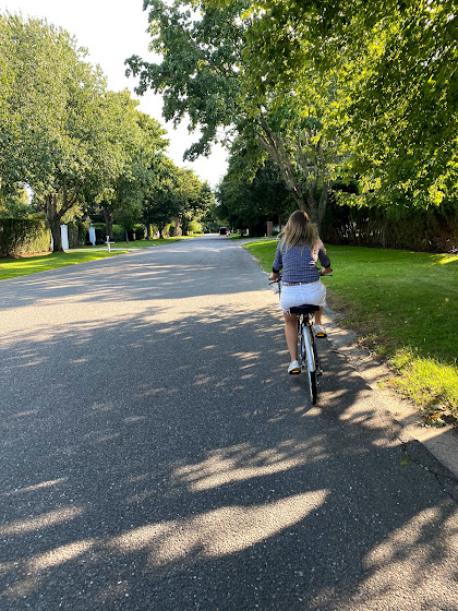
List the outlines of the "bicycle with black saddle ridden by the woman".
{"type": "MultiPolygon", "coordinates": [[[[274,283],[278,285],[276,292],[281,293],[281,276],[269,284],[274,283]]],[[[290,309],[291,314],[298,315],[298,360],[301,369],[306,369],[312,405],[315,405],[317,399],[317,378],[323,374],[312,325],[313,315],[317,310],[320,310],[320,306],[308,303],[290,309]]]]}

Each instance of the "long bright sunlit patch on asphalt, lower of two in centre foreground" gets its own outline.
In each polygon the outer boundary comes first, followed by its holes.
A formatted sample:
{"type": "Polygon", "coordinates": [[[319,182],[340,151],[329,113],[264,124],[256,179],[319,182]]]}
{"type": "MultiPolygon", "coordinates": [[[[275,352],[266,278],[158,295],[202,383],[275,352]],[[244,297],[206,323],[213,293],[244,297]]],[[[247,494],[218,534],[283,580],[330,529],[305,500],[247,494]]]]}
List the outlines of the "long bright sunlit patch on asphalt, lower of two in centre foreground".
{"type": "Polygon", "coordinates": [[[328,491],[287,496],[273,503],[227,506],[197,517],[142,526],[116,537],[110,546],[122,553],[148,552],[154,568],[183,562],[189,556],[221,558],[274,537],[321,507],[328,491]]]}

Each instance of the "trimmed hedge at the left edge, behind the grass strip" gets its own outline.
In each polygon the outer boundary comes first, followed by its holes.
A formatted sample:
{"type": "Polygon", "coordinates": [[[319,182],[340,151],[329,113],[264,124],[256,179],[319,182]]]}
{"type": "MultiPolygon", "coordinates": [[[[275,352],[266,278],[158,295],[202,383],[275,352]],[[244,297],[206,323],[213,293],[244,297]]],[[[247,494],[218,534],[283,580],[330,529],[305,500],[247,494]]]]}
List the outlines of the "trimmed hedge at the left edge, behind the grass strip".
{"type": "Polygon", "coordinates": [[[49,252],[51,233],[44,218],[0,218],[0,256],[49,252]]]}

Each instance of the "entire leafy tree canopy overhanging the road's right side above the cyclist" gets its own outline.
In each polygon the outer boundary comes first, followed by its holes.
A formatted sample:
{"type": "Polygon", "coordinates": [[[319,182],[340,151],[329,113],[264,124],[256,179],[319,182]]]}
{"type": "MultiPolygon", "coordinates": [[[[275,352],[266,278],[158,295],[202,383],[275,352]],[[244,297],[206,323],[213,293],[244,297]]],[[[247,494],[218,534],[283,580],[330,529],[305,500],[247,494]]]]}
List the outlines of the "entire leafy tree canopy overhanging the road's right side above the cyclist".
{"type": "Polygon", "coordinates": [[[438,205],[457,194],[453,0],[145,0],[158,63],[135,56],[140,93],[190,117],[208,154],[254,133],[297,205],[323,218],[335,179],[365,203],[438,205]]]}

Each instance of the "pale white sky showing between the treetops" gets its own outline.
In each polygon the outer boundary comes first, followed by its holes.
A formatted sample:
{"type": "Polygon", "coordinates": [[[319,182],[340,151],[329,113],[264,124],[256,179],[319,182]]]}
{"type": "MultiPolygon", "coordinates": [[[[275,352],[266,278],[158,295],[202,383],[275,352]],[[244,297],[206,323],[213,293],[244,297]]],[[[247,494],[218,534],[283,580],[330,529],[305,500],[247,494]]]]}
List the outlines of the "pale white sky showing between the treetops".
{"type": "Polygon", "coordinates": [[[193,169],[212,187],[222,178],[227,152],[217,146],[208,158],[183,161],[184,151],[197,140],[197,135],[188,133],[185,122],[173,130],[172,123],[166,123],[161,117],[161,97],[152,91],[136,96],[133,92],[136,80],[124,75],[124,60],[132,55],[149,61],[154,59],[148,51],[147,11],[143,11],[143,0],[0,0],[0,12],[5,11],[22,13],[24,17],[46,19],[48,23],[67,29],[80,47],[88,50],[87,61],[100,65],[109,89],[128,88],[132,97],[138,99],[138,109],[162,124],[170,140],[168,156],[177,166],[193,169]]]}

